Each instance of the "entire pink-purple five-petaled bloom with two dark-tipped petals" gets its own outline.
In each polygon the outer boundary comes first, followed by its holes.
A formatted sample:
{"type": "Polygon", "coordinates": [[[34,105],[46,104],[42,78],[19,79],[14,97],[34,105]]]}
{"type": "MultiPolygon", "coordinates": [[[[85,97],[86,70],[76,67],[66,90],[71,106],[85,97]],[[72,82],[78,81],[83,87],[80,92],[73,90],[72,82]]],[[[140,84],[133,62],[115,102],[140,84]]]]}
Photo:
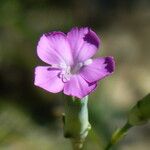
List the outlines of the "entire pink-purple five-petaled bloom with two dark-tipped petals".
{"type": "Polygon", "coordinates": [[[92,57],[100,40],[90,28],[73,28],[67,34],[44,34],[38,43],[37,54],[48,66],[35,69],[34,84],[49,92],[63,91],[66,95],[83,98],[92,92],[98,80],[112,74],[113,57],[92,57]]]}

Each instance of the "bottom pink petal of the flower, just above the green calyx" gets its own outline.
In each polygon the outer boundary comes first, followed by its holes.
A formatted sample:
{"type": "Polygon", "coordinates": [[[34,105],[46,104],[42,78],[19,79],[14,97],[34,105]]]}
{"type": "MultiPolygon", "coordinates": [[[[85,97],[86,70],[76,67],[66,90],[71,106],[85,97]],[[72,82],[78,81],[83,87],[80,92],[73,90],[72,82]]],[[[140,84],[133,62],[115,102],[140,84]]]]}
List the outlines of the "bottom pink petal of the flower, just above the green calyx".
{"type": "Polygon", "coordinates": [[[73,75],[70,81],[65,83],[64,93],[81,99],[92,92],[96,85],[96,82],[86,82],[80,75],[73,75]]]}

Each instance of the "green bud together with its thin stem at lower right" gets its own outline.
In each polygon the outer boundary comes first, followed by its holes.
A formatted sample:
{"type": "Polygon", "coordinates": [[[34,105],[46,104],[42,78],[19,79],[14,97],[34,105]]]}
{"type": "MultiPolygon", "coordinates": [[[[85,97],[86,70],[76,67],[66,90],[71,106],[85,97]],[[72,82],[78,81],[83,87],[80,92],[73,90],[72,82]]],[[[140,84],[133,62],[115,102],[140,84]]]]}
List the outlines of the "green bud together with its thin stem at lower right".
{"type": "Polygon", "coordinates": [[[128,130],[136,125],[142,125],[148,122],[150,119],[150,94],[146,95],[130,110],[128,114],[127,123],[120,129],[118,129],[111,137],[110,142],[106,146],[105,150],[109,150],[113,145],[118,143],[128,130]]]}

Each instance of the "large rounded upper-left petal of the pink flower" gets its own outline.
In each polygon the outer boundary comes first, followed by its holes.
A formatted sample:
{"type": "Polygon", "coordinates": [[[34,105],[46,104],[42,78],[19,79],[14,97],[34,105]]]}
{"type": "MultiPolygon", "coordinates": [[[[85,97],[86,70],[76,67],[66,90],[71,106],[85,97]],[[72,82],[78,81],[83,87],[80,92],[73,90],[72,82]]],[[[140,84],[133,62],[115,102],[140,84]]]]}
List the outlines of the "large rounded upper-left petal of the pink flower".
{"type": "Polygon", "coordinates": [[[44,34],[38,43],[37,54],[48,64],[72,64],[70,45],[63,32],[44,34]]]}

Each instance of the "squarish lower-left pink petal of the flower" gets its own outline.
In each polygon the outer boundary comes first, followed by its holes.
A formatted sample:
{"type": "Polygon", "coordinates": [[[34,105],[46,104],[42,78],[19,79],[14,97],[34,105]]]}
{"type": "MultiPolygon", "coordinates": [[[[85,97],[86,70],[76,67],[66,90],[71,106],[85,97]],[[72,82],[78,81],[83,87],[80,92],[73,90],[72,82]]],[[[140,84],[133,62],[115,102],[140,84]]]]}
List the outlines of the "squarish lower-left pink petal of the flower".
{"type": "Polygon", "coordinates": [[[60,70],[52,69],[47,66],[38,66],[35,68],[34,84],[49,92],[58,93],[63,90],[64,83],[58,77],[60,70]]]}

